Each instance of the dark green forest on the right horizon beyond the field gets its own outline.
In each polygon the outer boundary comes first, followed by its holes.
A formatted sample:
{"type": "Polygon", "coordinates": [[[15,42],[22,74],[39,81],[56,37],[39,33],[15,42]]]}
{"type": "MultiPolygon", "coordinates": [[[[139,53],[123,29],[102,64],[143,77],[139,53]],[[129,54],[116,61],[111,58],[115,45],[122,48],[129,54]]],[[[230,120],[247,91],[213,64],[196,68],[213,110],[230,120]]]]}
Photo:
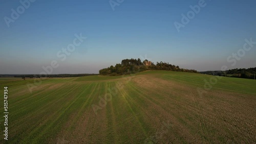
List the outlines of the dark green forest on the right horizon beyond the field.
{"type": "Polygon", "coordinates": [[[245,79],[254,79],[254,74],[256,74],[256,67],[254,68],[236,68],[236,69],[229,69],[226,71],[202,71],[200,74],[207,74],[207,75],[215,75],[215,76],[223,76],[223,77],[233,77],[233,78],[245,78],[245,79]]]}

